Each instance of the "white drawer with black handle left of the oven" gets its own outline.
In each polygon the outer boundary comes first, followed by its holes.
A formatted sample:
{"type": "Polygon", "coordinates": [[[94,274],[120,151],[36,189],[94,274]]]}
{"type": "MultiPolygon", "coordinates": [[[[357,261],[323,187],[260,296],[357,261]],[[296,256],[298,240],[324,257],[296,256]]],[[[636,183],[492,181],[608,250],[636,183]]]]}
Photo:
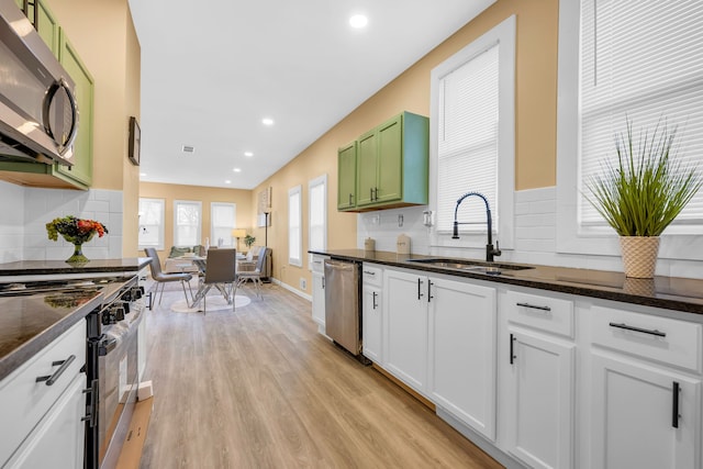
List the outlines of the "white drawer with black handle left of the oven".
{"type": "Polygon", "coordinates": [[[59,399],[86,362],[86,321],[81,320],[0,382],[0,466],[59,399]],[[54,361],[76,358],[52,386],[36,381],[59,369],[54,361]]]}

